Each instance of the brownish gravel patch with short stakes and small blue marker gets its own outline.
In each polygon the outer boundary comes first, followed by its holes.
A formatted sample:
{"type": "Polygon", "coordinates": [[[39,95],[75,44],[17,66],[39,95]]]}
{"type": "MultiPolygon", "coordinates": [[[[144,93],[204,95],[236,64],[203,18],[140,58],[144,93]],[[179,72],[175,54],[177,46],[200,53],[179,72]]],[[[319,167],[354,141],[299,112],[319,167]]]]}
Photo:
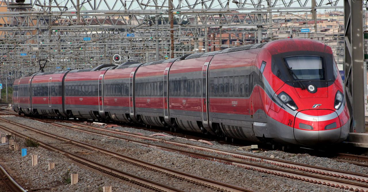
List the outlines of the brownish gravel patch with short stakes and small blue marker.
{"type": "MultiPolygon", "coordinates": [[[[1,135],[4,132],[0,131],[1,135]]],[[[21,148],[27,149],[27,155],[21,157],[20,151],[0,146],[0,161],[5,168],[12,170],[20,179],[20,185],[29,191],[96,191],[102,192],[103,186],[113,186],[113,191],[137,192],[138,189],[122,184],[106,174],[81,167],[67,157],[44,149],[42,147],[25,147],[24,139],[16,139],[21,148]],[[38,156],[38,164],[32,166],[32,155],[38,156]],[[48,170],[49,163],[55,163],[55,168],[48,170]],[[78,183],[71,185],[70,174],[78,173],[78,183]]]]}

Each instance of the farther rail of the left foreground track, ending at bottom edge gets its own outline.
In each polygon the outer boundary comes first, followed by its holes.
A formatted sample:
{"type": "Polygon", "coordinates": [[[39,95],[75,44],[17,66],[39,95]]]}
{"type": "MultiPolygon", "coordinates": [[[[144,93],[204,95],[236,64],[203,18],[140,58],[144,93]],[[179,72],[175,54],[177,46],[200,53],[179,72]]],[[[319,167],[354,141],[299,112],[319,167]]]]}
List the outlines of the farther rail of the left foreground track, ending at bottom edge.
{"type": "MultiPolygon", "coordinates": [[[[3,120],[3,119],[1,119],[1,120],[3,120]]],[[[11,122],[12,121],[8,121],[8,123],[11,123],[11,122]]],[[[15,123],[15,122],[13,122],[13,123],[15,123]]],[[[223,182],[212,181],[210,179],[198,177],[196,175],[191,175],[191,174],[187,174],[185,172],[176,171],[176,170],[166,168],[166,167],[163,167],[163,166],[160,166],[160,165],[155,165],[153,163],[149,163],[149,162],[142,161],[142,160],[139,160],[139,159],[136,159],[136,158],[125,156],[123,154],[116,153],[114,151],[102,149],[102,148],[97,147],[97,146],[92,146],[91,144],[88,144],[88,143],[79,142],[79,141],[74,140],[74,139],[69,139],[69,138],[66,138],[66,137],[63,137],[63,136],[54,135],[52,133],[47,133],[47,132],[44,132],[44,131],[41,131],[41,130],[38,130],[38,129],[34,129],[34,128],[31,128],[31,127],[28,127],[28,126],[23,126],[23,125],[20,125],[20,124],[18,124],[17,126],[20,126],[22,128],[31,130],[33,132],[36,132],[36,133],[39,133],[39,134],[42,134],[42,135],[52,137],[54,139],[62,140],[64,142],[68,142],[68,143],[73,143],[73,144],[76,144],[78,146],[82,146],[82,147],[87,148],[87,149],[99,151],[101,153],[105,153],[105,154],[108,154],[110,156],[114,156],[114,157],[117,157],[117,158],[120,158],[120,159],[123,159],[123,160],[126,160],[126,161],[130,161],[132,163],[139,164],[139,165],[142,165],[142,166],[147,167],[147,168],[151,168],[151,169],[154,169],[154,170],[157,170],[157,171],[165,172],[167,174],[178,176],[178,177],[181,177],[182,179],[187,179],[188,182],[191,182],[191,183],[194,183],[194,184],[197,183],[198,185],[203,184],[204,186],[210,186],[210,187],[212,186],[212,188],[216,188],[219,191],[254,192],[254,191],[249,190],[249,189],[244,189],[244,188],[234,186],[234,185],[230,185],[230,184],[226,184],[226,183],[223,183],[223,182]]]]}

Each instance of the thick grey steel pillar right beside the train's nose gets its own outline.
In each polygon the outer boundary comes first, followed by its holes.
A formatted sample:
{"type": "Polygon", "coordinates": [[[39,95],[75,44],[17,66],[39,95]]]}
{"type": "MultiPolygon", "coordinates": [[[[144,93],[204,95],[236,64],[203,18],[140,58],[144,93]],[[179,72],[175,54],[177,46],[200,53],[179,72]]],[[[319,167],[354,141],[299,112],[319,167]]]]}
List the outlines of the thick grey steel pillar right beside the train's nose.
{"type": "Polygon", "coordinates": [[[350,132],[366,132],[364,90],[367,79],[364,73],[364,41],[362,1],[344,0],[345,22],[345,85],[347,102],[353,114],[350,132]]]}

